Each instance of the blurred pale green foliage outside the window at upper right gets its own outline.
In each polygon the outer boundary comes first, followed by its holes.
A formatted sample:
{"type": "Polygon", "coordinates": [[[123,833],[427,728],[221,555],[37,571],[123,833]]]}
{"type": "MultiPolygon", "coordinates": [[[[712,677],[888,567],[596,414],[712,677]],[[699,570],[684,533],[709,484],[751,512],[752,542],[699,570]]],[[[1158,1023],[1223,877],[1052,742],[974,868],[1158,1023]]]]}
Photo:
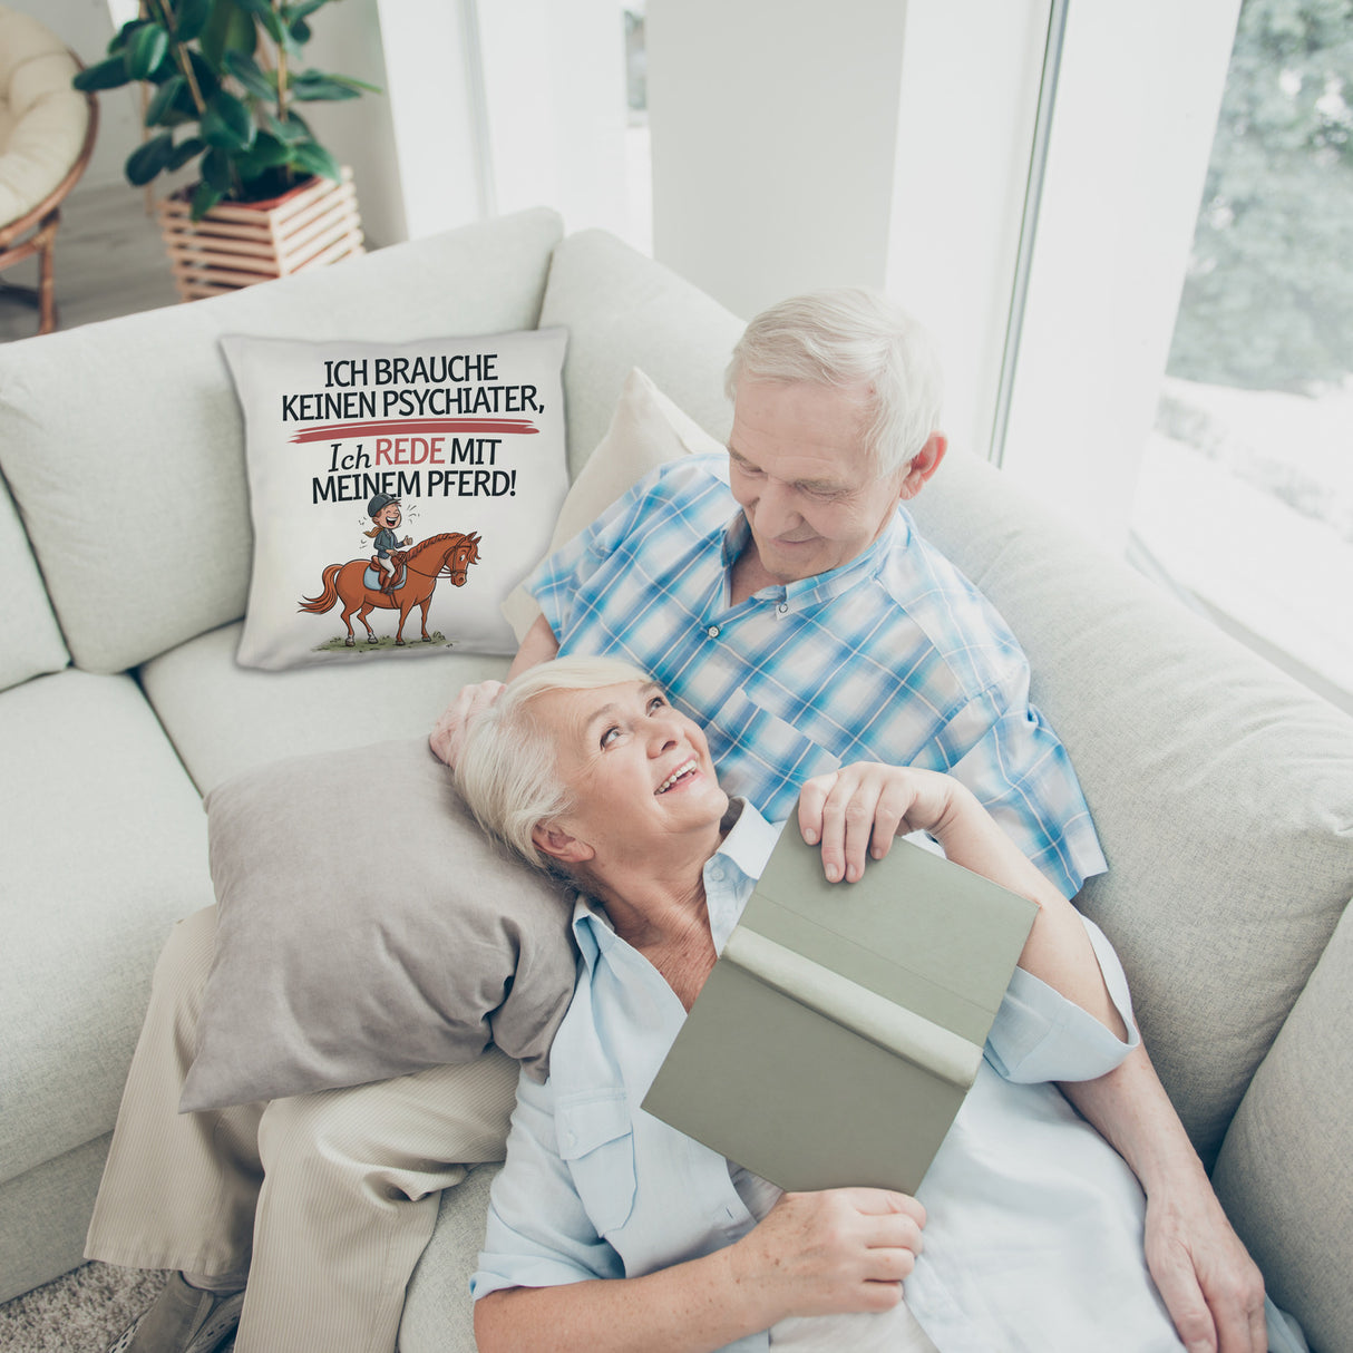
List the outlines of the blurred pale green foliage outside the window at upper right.
{"type": "Polygon", "coordinates": [[[1353,0],[1245,0],[1169,373],[1353,372],[1353,0]]]}

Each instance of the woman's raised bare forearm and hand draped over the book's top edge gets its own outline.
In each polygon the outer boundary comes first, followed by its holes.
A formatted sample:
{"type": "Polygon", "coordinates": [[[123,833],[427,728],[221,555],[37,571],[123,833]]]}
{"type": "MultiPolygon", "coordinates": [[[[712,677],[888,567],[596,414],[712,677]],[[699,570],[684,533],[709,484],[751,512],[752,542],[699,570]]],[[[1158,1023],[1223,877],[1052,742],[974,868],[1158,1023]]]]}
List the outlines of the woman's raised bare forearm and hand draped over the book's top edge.
{"type": "Polygon", "coordinates": [[[809,844],[821,842],[823,867],[833,882],[858,879],[866,855],[882,859],[894,836],[930,832],[955,865],[1038,905],[1019,966],[1127,1039],[1080,913],[951,775],[877,762],[844,766],[808,781],[798,825],[809,844]]]}

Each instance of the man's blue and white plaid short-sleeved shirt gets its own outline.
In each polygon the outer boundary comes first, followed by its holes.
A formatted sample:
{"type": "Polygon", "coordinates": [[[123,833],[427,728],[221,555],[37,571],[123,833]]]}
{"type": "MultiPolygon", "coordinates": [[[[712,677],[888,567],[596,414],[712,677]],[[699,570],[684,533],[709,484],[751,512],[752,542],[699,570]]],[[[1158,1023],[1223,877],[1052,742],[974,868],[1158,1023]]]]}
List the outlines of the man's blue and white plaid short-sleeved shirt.
{"type": "Polygon", "coordinates": [[[1107,866],[1028,662],[905,509],[856,559],[729,605],[751,532],[724,456],[640,480],[528,580],[560,655],[624,658],[709,736],[720,783],[771,820],[856,760],[951,771],[1072,897],[1107,866]]]}

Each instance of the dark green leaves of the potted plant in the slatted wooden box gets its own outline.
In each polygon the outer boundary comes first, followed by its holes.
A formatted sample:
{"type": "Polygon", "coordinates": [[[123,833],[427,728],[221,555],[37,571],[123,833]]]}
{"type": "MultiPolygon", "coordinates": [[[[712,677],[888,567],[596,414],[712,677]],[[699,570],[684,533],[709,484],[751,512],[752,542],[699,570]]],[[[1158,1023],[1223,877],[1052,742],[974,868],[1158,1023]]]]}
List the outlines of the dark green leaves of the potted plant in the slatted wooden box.
{"type": "Polygon", "coordinates": [[[146,126],[160,129],[127,158],[150,183],[199,160],[193,219],[218,202],[264,202],[314,175],[337,180],[338,162],[315,141],[296,104],[356,99],[373,85],[302,68],[310,16],[329,0],[146,0],[106,60],[81,70],[77,89],[149,87],[146,126]]]}

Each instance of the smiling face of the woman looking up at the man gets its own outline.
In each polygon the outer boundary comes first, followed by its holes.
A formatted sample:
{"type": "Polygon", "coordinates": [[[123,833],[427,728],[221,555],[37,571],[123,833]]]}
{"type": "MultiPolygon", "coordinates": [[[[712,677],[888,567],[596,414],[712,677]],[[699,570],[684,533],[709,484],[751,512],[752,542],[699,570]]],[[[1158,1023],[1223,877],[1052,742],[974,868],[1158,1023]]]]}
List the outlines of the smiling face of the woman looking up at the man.
{"type": "Polygon", "coordinates": [[[532,710],[553,736],[575,808],[557,827],[598,861],[704,840],[728,809],[700,725],[652,682],[557,690],[532,710]]]}

